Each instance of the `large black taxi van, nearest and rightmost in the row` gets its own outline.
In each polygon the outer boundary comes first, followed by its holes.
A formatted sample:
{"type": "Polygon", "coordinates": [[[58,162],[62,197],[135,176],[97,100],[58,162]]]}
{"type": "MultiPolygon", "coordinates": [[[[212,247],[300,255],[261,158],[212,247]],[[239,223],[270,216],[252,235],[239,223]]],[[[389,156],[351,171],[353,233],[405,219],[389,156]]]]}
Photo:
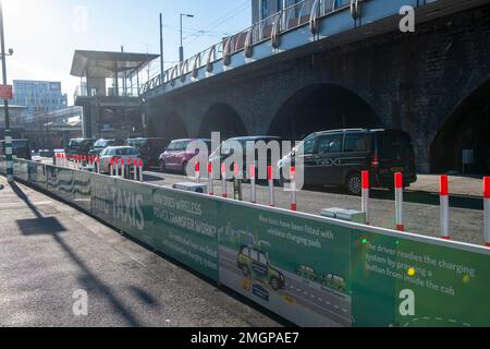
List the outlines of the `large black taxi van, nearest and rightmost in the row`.
{"type": "Polygon", "coordinates": [[[417,181],[411,136],[397,130],[334,130],[306,137],[279,163],[286,169],[304,148],[305,184],[342,185],[351,194],[362,192],[362,171],[369,170],[371,186],[393,188],[393,176],[402,172],[404,185],[417,181]]]}

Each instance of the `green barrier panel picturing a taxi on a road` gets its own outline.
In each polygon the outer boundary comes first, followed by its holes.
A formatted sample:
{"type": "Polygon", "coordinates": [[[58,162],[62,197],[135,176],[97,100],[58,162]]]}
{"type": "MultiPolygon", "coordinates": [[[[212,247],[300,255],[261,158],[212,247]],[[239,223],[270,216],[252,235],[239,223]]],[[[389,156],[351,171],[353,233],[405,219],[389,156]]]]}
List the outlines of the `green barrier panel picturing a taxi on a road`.
{"type": "Polygon", "coordinates": [[[302,326],[352,326],[348,229],[234,202],[219,212],[223,285],[302,326]]]}

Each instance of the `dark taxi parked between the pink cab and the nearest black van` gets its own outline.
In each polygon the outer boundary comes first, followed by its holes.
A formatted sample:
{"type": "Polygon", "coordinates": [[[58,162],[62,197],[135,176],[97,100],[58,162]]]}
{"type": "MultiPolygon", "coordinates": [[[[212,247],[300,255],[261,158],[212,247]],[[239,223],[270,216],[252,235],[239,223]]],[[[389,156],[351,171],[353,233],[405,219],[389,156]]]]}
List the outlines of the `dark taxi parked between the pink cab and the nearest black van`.
{"type": "MultiPolygon", "coordinates": [[[[234,137],[234,139],[230,139],[224,141],[223,143],[221,143],[220,147],[218,149],[216,149],[210,156],[209,156],[209,161],[219,161],[219,163],[223,163],[229,157],[233,156],[233,147],[232,142],[238,142],[242,145],[242,152],[243,152],[243,177],[244,178],[248,178],[249,171],[246,168],[246,155],[247,152],[249,152],[250,149],[247,148],[247,146],[256,146],[257,143],[259,142],[264,142],[266,145],[270,145],[271,142],[278,142],[279,144],[279,149],[282,151],[282,139],[280,137],[275,137],[275,136],[246,136],[246,137],[234,137]]],[[[281,154],[279,154],[279,158],[281,158],[281,154]]],[[[272,157],[270,152],[268,152],[267,155],[267,165],[272,165],[272,157]]],[[[256,165],[259,161],[259,156],[258,156],[258,152],[255,152],[255,163],[256,165]]],[[[229,171],[233,172],[233,168],[230,168],[229,171]]],[[[262,169],[262,173],[266,173],[265,177],[267,177],[267,169],[262,169]]],[[[259,169],[258,166],[256,167],[256,178],[259,179],[258,177],[259,174],[259,169]]],[[[267,178],[262,178],[262,179],[267,179],[267,178]]]]}

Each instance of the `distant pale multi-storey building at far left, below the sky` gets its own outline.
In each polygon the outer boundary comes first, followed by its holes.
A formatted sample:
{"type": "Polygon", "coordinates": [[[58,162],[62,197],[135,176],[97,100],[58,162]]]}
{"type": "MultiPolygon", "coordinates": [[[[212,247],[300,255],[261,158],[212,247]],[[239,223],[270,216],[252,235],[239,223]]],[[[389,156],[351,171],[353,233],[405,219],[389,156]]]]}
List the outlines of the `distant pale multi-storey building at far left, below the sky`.
{"type": "Polygon", "coordinates": [[[66,108],[68,96],[61,91],[60,82],[14,80],[13,104],[27,108],[27,115],[54,111],[66,108]]]}

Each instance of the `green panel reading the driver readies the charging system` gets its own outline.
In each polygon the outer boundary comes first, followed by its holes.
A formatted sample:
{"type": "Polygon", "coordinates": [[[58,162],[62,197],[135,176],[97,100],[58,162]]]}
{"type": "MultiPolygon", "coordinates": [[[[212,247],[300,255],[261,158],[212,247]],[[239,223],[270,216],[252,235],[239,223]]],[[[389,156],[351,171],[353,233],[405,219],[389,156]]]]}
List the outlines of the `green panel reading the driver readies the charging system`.
{"type": "Polygon", "coordinates": [[[490,326],[483,249],[373,232],[352,237],[355,325],[490,326]]]}

